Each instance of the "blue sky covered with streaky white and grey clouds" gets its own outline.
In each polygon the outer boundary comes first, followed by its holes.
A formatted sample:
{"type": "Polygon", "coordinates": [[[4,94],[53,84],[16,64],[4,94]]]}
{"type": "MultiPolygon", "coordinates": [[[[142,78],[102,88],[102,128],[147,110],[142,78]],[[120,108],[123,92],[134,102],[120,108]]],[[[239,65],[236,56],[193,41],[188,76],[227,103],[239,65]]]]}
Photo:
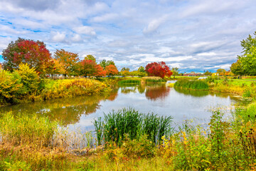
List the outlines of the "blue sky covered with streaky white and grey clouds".
{"type": "MultiPolygon", "coordinates": [[[[180,72],[229,70],[256,31],[255,0],[1,0],[0,55],[18,37],[120,70],[164,61],[180,72]]],[[[3,59],[0,56],[0,62],[3,59]]]]}

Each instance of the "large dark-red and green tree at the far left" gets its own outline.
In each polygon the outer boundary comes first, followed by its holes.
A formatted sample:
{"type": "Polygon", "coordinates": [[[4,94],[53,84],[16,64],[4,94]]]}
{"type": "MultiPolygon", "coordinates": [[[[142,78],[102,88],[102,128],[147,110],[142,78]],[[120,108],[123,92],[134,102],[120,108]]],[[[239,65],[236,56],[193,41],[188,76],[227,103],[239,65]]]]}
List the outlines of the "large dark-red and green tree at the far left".
{"type": "Polygon", "coordinates": [[[28,63],[30,68],[35,68],[39,73],[45,73],[50,61],[50,52],[43,41],[32,41],[18,38],[15,42],[9,43],[4,49],[4,68],[13,71],[21,63],[28,63]]]}

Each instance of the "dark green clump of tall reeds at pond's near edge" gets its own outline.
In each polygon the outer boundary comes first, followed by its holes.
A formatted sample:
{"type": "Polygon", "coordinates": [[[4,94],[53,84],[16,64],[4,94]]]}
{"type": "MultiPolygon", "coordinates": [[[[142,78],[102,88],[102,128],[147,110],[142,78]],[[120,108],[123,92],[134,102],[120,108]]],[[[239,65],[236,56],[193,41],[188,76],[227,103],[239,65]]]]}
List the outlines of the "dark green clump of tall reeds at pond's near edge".
{"type": "Polygon", "coordinates": [[[154,113],[139,113],[133,108],[123,108],[104,115],[104,118],[95,120],[97,142],[102,144],[114,141],[122,145],[125,135],[131,140],[147,135],[154,144],[159,143],[161,136],[168,135],[171,126],[171,117],[163,117],[154,113]]]}

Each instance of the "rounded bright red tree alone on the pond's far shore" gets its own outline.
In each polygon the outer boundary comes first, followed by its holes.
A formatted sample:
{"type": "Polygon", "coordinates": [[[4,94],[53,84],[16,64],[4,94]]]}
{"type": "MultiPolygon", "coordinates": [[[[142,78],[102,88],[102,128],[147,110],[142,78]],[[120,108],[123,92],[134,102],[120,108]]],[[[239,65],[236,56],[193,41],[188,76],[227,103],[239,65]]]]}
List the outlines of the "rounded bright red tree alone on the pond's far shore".
{"type": "Polygon", "coordinates": [[[159,76],[161,78],[164,78],[164,76],[172,75],[170,68],[166,66],[166,63],[163,61],[159,63],[154,62],[147,64],[145,71],[149,76],[159,76]]]}

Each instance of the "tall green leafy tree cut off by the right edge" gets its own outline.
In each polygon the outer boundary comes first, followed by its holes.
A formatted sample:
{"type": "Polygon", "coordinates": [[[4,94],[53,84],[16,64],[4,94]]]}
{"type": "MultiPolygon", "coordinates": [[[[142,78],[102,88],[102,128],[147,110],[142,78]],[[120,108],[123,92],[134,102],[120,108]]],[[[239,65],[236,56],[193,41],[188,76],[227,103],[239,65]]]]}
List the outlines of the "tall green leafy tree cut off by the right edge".
{"type": "MultiPolygon", "coordinates": [[[[256,31],[254,33],[256,36],[256,31]]],[[[241,60],[245,74],[256,76],[256,37],[249,36],[241,41],[242,55],[238,56],[241,60]]]]}

